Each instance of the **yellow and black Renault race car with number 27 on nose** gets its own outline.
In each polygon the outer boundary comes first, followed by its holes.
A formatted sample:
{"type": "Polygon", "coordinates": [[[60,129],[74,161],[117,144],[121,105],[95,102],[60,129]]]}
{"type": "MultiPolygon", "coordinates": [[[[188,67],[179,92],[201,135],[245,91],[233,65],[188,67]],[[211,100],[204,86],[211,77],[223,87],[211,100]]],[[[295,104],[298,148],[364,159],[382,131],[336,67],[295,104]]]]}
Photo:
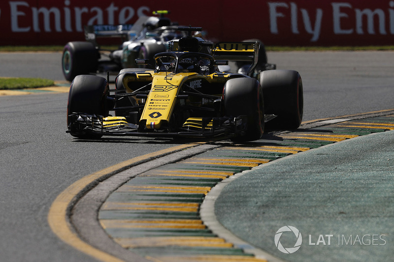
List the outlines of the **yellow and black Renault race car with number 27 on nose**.
{"type": "Polygon", "coordinates": [[[105,78],[79,75],[71,83],[67,132],[80,139],[110,136],[216,137],[253,141],[264,125],[296,129],[302,120],[301,77],[266,70],[257,42],[213,44],[188,36],[155,55],[152,69],[123,69],[110,89],[105,78]],[[246,74],[219,71],[229,61],[250,64],[246,74]],[[258,66],[260,65],[260,66],[258,66]],[[114,112],[115,116],[109,115],[114,112]]]}

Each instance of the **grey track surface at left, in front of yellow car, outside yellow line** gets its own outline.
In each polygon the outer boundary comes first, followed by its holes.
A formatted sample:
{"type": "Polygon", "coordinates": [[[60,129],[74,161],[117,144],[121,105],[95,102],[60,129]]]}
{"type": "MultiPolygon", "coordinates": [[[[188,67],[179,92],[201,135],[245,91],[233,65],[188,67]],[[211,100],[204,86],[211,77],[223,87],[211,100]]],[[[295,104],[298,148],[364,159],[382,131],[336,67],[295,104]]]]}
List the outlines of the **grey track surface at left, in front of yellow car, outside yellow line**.
{"type": "Polygon", "coordinates": [[[60,240],[47,216],[73,182],[133,157],[177,146],[172,140],[66,134],[68,94],[0,96],[0,261],[97,261],[60,240]]]}

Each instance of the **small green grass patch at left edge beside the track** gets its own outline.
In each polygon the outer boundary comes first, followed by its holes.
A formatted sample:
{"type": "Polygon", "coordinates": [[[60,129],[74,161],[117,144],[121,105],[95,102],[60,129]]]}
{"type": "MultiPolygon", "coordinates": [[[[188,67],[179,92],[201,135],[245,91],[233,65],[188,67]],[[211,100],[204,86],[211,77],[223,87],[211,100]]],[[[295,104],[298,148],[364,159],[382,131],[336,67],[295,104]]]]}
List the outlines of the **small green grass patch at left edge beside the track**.
{"type": "Polygon", "coordinates": [[[53,80],[42,78],[0,78],[0,90],[52,87],[54,85],[53,80]]]}

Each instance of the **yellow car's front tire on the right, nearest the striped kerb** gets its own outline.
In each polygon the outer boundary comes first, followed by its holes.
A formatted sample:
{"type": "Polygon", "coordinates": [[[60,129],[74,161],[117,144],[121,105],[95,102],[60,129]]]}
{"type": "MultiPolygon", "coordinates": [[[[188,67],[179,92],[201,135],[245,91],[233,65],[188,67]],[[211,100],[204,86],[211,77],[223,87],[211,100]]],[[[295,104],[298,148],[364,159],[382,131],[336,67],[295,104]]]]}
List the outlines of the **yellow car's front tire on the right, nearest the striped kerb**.
{"type": "Polygon", "coordinates": [[[264,104],[260,83],[254,78],[235,78],[226,82],[223,89],[226,116],[247,116],[247,128],[243,136],[233,141],[254,141],[263,136],[264,104]]]}

